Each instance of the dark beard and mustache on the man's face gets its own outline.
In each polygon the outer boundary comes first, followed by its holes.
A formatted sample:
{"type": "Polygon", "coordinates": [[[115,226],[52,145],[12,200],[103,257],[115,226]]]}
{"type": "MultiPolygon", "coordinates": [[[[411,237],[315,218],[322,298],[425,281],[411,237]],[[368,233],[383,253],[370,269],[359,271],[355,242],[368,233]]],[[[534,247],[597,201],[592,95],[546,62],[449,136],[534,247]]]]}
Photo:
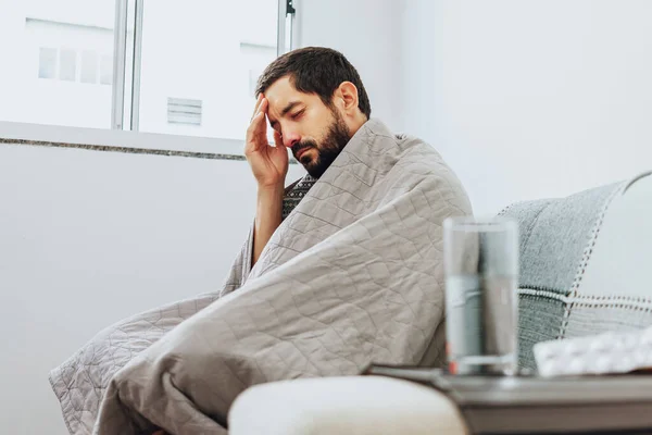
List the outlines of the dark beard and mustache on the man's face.
{"type": "Polygon", "coordinates": [[[333,111],[333,115],[335,120],[328,127],[328,133],[322,144],[317,145],[315,140],[306,139],[292,146],[294,158],[297,158],[297,152],[302,149],[314,148],[316,150],[317,157],[315,159],[311,159],[308,154],[303,154],[302,159],[297,159],[303,164],[305,171],[315,178],[319,178],[326,172],[328,166],[330,166],[347,144],[349,144],[349,140],[351,140],[351,132],[344,120],[336,111],[333,111]]]}

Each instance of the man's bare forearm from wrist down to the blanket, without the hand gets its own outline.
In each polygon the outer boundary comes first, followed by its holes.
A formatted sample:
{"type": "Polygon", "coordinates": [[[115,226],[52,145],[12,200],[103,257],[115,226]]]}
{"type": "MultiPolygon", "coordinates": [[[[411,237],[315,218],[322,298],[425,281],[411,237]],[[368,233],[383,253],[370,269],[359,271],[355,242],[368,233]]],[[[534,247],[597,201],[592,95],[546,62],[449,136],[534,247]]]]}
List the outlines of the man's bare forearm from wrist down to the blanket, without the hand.
{"type": "Polygon", "coordinates": [[[284,186],[259,187],[253,226],[253,257],[251,265],[261,257],[263,248],[281,221],[284,186]]]}

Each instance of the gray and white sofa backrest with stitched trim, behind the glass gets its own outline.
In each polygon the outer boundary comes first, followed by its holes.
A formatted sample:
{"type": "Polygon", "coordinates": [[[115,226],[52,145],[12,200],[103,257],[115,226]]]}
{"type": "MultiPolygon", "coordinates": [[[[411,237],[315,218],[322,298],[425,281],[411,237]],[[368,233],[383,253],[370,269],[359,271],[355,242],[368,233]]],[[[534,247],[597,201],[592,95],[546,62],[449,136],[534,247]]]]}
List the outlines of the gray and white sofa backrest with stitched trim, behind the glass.
{"type": "Polygon", "coordinates": [[[652,325],[651,174],[501,212],[521,229],[522,368],[539,341],[652,325]]]}

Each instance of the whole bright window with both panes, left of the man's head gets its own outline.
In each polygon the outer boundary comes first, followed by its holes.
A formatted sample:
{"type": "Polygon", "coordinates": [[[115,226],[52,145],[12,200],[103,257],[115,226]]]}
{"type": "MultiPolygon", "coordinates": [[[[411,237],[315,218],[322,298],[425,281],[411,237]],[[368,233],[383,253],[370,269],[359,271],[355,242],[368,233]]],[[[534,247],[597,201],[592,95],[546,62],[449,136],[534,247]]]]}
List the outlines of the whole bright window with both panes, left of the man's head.
{"type": "Polygon", "coordinates": [[[0,5],[0,121],[242,139],[287,36],[278,0],[20,3],[0,5]]]}

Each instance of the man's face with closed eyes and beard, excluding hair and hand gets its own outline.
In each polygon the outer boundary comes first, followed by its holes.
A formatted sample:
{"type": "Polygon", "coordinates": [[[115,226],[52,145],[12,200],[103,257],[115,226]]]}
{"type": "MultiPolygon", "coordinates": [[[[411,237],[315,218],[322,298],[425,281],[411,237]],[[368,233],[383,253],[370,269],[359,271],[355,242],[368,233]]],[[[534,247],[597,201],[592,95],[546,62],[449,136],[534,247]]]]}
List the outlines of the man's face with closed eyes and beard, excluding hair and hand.
{"type": "Polygon", "coordinates": [[[318,96],[294,89],[289,77],[269,86],[265,98],[269,124],[280,133],[283,145],[309,174],[322,176],[351,139],[341,114],[318,96]]]}

